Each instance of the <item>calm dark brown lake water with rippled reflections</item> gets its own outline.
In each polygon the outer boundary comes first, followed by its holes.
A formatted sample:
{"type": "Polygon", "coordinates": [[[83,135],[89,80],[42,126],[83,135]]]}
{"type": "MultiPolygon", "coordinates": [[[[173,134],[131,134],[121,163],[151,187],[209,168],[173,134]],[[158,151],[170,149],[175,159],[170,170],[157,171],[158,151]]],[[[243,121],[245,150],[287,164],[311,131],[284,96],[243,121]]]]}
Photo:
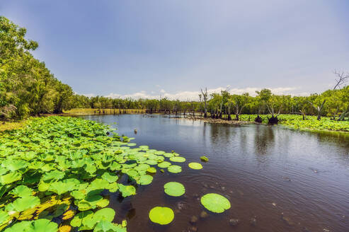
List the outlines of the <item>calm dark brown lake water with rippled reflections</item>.
{"type": "Polygon", "coordinates": [[[110,197],[115,221],[127,219],[129,232],[349,231],[348,136],[281,126],[207,124],[164,115],[84,118],[117,122],[112,125],[117,132],[135,137],[137,145],[173,150],[187,159],[179,164],[182,173],[158,171],[151,185],[137,187],[137,195],[110,197]],[[202,170],[188,168],[202,155],[210,158],[202,170]],[[183,183],[185,196],[165,195],[168,181],[183,183]],[[226,196],[231,209],[200,219],[205,211],[200,197],[210,192],[226,196]],[[149,221],[149,210],[156,206],[175,211],[171,224],[156,226],[149,221]],[[195,224],[190,224],[192,216],[198,217],[195,224]],[[231,226],[229,219],[240,221],[231,226]]]}

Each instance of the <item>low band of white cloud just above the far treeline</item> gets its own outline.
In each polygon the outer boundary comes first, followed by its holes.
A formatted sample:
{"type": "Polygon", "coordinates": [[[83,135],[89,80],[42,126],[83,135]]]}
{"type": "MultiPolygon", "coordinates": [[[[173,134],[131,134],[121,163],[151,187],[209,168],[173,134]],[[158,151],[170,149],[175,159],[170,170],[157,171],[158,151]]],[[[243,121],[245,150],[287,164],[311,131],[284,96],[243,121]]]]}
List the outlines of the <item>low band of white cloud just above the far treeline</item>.
{"type": "MultiPolygon", "coordinates": [[[[256,88],[256,87],[247,87],[247,88],[231,88],[230,86],[227,87],[218,87],[218,88],[210,88],[207,89],[207,92],[209,94],[211,93],[220,93],[220,91],[228,90],[231,94],[242,94],[242,93],[249,93],[250,95],[255,96],[256,91],[260,91],[262,88],[256,88]]],[[[272,93],[281,95],[281,94],[287,94],[287,95],[309,95],[309,93],[294,93],[295,91],[299,90],[298,87],[278,87],[278,88],[269,88],[272,93]]],[[[161,89],[158,93],[151,91],[148,93],[147,91],[140,91],[136,93],[131,94],[125,94],[121,95],[118,93],[109,93],[108,95],[105,95],[105,97],[108,98],[168,98],[171,100],[199,100],[199,94],[200,91],[178,91],[176,93],[168,93],[164,89],[161,89]]],[[[93,94],[85,94],[87,96],[91,96],[93,94]]]]}

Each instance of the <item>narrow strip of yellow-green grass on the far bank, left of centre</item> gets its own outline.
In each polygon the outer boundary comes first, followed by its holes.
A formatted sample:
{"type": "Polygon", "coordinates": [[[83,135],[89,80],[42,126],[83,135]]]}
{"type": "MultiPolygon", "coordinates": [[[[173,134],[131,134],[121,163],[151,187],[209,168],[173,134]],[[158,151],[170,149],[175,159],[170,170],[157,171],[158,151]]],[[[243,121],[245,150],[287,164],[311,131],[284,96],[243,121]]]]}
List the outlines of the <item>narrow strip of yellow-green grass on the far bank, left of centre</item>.
{"type": "Polygon", "coordinates": [[[75,108],[64,110],[64,115],[79,116],[79,115],[118,115],[118,114],[144,114],[145,110],[137,109],[91,109],[91,108],[75,108]]]}

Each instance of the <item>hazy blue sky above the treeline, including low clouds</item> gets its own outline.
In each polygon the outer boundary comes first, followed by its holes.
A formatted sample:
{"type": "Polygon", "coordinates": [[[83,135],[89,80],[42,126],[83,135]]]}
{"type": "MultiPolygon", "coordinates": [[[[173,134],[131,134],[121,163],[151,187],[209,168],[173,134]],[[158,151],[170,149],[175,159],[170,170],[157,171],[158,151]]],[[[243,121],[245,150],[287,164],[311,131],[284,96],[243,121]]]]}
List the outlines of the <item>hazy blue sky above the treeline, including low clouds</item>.
{"type": "Polygon", "coordinates": [[[203,87],[295,95],[349,71],[349,1],[1,0],[35,57],[86,95],[196,98],[203,87]]]}

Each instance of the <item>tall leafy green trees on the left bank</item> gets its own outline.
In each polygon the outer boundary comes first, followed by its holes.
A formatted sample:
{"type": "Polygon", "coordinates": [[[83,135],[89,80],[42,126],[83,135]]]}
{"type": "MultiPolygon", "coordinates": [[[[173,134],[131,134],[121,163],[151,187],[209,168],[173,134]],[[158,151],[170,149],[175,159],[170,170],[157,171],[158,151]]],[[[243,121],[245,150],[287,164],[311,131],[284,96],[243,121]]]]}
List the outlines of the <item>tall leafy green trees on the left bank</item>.
{"type": "Polygon", "coordinates": [[[0,119],[22,118],[71,108],[73,91],[53,76],[30,50],[38,42],[0,16],[0,119]]]}

